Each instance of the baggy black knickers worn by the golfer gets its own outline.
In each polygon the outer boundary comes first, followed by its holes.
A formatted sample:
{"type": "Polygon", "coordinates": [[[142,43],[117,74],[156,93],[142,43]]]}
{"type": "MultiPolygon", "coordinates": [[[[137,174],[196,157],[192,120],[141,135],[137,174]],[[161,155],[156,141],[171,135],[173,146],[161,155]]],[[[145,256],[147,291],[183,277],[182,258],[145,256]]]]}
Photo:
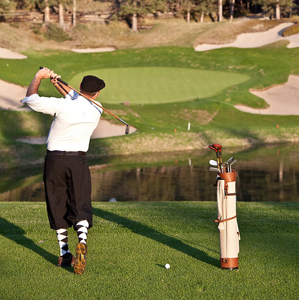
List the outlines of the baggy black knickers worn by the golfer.
{"type": "Polygon", "coordinates": [[[76,219],[87,220],[92,227],[91,178],[85,156],[47,153],[44,184],[52,229],[74,226],[76,219]]]}

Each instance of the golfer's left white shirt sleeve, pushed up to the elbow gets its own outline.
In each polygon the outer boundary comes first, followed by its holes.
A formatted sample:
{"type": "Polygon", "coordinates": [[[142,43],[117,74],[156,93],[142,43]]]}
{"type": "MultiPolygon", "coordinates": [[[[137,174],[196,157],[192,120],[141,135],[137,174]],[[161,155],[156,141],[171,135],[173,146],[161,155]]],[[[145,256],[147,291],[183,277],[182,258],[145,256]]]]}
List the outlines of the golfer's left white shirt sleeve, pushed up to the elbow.
{"type": "Polygon", "coordinates": [[[25,97],[22,102],[35,111],[54,116],[54,114],[59,114],[63,100],[63,98],[40,97],[38,94],[33,94],[25,97]]]}

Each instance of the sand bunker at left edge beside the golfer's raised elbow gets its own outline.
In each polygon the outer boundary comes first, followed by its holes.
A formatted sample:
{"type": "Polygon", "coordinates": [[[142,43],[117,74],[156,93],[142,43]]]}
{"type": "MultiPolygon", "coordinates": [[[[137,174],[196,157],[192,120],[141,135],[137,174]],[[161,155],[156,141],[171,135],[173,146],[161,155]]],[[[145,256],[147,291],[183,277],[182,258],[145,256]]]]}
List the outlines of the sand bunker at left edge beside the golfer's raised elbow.
{"type": "Polygon", "coordinates": [[[0,79],[0,108],[16,109],[23,106],[21,102],[26,95],[27,87],[0,79]]]}

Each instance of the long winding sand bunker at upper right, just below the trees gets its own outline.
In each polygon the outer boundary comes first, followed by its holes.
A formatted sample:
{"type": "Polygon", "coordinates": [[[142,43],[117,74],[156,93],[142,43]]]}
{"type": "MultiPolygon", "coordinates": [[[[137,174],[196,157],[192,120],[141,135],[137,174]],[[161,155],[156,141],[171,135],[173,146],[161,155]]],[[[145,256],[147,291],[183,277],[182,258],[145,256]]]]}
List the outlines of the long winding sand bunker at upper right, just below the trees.
{"type": "Polygon", "coordinates": [[[195,50],[206,51],[227,47],[257,48],[281,40],[288,40],[290,42],[287,48],[297,48],[299,47],[299,33],[286,37],[282,36],[283,30],[293,24],[294,23],[281,23],[267,31],[242,33],[237,36],[234,42],[229,44],[199,44],[195,47],[195,50]]]}

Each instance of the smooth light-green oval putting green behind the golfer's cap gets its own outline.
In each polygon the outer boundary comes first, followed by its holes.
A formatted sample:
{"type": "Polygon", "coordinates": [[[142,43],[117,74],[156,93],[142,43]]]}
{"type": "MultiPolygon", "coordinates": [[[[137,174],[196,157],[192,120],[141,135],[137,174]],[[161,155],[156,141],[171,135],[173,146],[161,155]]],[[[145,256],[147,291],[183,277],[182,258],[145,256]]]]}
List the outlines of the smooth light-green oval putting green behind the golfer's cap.
{"type": "Polygon", "coordinates": [[[70,85],[78,86],[82,77],[102,78],[106,87],[101,91],[102,103],[165,103],[207,98],[229,86],[249,80],[248,75],[170,67],[137,67],[90,70],[75,75],[70,85]]]}

